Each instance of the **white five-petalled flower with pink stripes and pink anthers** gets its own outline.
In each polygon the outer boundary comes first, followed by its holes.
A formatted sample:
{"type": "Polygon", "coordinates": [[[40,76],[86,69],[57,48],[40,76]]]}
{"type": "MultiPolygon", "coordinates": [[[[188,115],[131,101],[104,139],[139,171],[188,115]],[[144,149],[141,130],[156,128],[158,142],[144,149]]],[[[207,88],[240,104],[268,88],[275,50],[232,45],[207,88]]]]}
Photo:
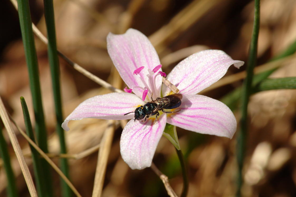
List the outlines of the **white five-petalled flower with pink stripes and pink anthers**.
{"type": "Polygon", "coordinates": [[[197,133],[232,138],[237,122],[231,110],[222,102],[207,96],[197,95],[200,91],[223,77],[229,66],[239,68],[242,61],[233,60],[220,50],[205,50],[181,61],[166,77],[183,95],[182,104],[173,111],[161,113],[158,120],[150,117],[146,122],[134,121],[136,107],[156,97],[167,96],[171,90],[162,85],[158,55],[148,38],[135,29],[125,34],[107,36],[108,53],[128,85],[123,93],[99,95],[83,101],[62,124],[65,130],[70,120],[99,118],[107,120],[131,119],[120,138],[120,152],[131,169],[150,167],[157,144],[163,135],[166,123],[197,133]],[[133,93],[131,93],[133,92],[133,93]]]}

